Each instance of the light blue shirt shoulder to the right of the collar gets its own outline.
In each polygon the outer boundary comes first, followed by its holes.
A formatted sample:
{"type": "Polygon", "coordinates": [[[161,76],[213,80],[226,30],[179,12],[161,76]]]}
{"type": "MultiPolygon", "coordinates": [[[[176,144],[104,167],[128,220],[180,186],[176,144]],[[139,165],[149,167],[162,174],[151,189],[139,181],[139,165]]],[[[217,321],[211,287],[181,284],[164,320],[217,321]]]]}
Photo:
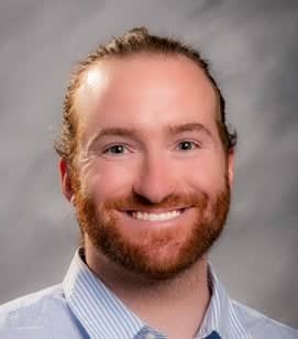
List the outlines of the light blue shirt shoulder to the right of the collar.
{"type": "Polygon", "coordinates": [[[298,330],[266,317],[239,302],[231,300],[232,308],[245,332],[253,339],[298,339],[298,330]]]}

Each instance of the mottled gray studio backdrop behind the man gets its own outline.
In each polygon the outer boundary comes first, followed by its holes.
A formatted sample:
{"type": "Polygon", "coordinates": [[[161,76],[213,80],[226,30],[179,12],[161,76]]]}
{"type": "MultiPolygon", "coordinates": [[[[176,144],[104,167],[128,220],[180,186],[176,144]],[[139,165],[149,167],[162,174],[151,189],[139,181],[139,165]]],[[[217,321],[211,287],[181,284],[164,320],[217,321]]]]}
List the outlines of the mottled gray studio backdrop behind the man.
{"type": "Polygon", "coordinates": [[[60,282],[78,240],[52,143],[74,62],[135,25],[200,46],[240,143],[211,259],[231,296],[298,325],[298,1],[0,2],[0,302],[60,282]]]}

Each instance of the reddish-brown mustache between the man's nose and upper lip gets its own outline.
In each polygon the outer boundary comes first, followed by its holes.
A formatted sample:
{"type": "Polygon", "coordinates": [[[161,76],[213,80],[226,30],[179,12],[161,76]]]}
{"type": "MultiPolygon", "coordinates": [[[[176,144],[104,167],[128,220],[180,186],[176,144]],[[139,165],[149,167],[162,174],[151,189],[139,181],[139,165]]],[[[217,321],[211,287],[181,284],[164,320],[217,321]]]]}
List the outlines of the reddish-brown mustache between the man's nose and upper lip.
{"type": "Polygon", "coordinates": [[[175,209],[186,207],[205,207],[208,201],[208,195],[205,193],[169,195],[159,203],[153,203],[146,197],[137,194],[131,194],[123,198],[109,200],[104,203],[104,209],[118,210],[142,210],[150,208],[175,209]]]}

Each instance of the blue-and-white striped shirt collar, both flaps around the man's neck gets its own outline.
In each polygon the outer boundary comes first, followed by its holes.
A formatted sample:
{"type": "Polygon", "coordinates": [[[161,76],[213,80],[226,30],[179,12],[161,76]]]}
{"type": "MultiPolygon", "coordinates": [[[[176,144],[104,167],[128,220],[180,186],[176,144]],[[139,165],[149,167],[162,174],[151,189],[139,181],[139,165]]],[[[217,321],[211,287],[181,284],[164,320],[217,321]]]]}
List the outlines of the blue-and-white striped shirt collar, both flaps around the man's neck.
{"type": "MultiPolygon", "coordinates": [[[[85,264],[84,249],[76,251],[63,281],[66,302],[90,338],[132,339],[150,329],[85,264]]],[[[217,331],[221,338],[246,338],[232,303],[209,264],[212,297],[197,339],[217,331]]],[[[156,338],[164,338],[154,331],[156,338]]],[[[141,337],[141,336],[140,336],[141,337]]]]}

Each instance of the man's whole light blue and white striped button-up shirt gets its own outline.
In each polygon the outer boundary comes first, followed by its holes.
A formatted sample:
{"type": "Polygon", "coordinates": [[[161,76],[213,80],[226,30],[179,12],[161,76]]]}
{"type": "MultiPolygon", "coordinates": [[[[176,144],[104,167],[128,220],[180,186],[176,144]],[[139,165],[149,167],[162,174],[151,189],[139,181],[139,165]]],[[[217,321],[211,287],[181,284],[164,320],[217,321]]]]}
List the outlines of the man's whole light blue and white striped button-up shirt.
{"type": "MultiPolygon", "coordinates": [[[[0,339],[164,339],[85,264],[77,250],[62,284],[0,306],[0,339]]],[[[229,298],[211,266],[212,297],[196,339],[294,339],[298,331],[229,298]]],[[[183,339],[183,338],[181,338],[183,339]]]]}

